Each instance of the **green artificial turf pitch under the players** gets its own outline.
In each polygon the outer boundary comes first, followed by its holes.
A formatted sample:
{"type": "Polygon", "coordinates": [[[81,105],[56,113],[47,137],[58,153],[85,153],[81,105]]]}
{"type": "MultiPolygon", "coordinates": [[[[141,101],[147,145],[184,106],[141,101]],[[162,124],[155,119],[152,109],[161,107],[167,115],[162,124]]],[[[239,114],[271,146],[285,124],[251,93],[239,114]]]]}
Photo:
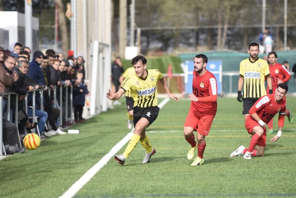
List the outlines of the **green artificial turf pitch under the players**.
{"type": "MultiPolygon", "coordinates": [[[[296,115],[296,98],[287,108],[296,115]]],[[[130,131],[125,99],[72,129],[80,134],[55,135],[34,151],[0,161],[0,197],[59,197],[130,131]]],[[[161,101],[161,99],[160,99],[161,101]]],[[[145,150],[138,144],[121,166],[111,158],[74,197],[296,197],[296,123],[285,118],[282,137],[270,143],[264,157],[229,157],[240,145],[248,147],[242,103],[218,98],[218,112],[209,135],[204,164],[190,166],[183,124],[188,99],[170,100],[160,110],[147,135],[156,153],[141,164],[145,150]]],[[[277,129],[277,116],[274,128],[277,129]]],[[[124,145],[118,154],[123,153],[124,145]]],[[[197,153],[195,153],[195,156],[197,153]]]]}

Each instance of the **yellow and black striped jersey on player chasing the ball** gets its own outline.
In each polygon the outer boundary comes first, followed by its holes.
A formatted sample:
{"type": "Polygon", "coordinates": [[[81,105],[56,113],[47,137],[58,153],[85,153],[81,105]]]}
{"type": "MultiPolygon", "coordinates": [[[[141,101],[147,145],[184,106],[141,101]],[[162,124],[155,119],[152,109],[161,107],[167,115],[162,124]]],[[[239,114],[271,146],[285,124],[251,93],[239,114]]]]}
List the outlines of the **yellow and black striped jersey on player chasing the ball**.
{"type": "Polygon", "coordinates": [[[158,104],[157,80],[162,78],[163,74],[158,69],[148,69],[145,79],[138,77],[134,72],[126,77],[121,88],[125,91],[131,89],[134,107],[155,107],[158,104]]]}

